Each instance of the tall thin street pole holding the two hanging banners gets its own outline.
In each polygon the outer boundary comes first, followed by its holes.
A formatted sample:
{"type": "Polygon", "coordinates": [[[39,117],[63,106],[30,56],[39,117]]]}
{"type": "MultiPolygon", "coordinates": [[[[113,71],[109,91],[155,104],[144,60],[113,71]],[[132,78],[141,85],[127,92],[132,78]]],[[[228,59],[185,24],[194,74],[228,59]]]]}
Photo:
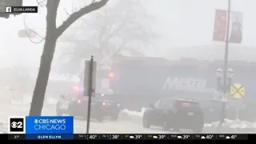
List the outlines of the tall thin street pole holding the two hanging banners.
{"type": "MultiPolygon", "coordinates": [[[[225,55],[224,55],[224,67],[223,67],[223,97],[226,97],[226,82],[227,82],[227,65],[228,65],[228,54],[229,54],[229,44],[230,44],[230,9],[231,9],[231,0],[228,0],[227,7],[227,24],[226,24],[226,43],[225,43],[225,55]]],[[[220,124],[224,122],[226,118],[226,102],[223,102],[222,106],[222,120],[220,124]]]]}

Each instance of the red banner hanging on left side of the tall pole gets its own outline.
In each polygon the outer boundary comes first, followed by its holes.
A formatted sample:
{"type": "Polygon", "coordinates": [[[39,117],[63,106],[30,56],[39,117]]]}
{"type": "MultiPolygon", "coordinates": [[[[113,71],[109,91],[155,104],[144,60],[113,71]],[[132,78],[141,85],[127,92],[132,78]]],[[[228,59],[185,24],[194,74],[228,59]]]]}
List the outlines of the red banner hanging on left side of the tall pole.
{"type": "Polygon", "coordinates": [[[225,42],[226,40],[226,10],[215,10],[214,41],[225,42]]]}

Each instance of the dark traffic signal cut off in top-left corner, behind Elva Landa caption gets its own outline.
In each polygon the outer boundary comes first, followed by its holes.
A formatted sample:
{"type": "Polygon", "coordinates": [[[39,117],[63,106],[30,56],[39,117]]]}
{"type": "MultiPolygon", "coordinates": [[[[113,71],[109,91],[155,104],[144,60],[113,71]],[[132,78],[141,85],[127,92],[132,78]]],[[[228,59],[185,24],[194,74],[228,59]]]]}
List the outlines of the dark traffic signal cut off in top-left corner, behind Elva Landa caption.
{"type": "Polygon", "coordinates": [[[0,18],[10,18],[10,14],[19,15],[22,13],[6,13],[6,6],[22,6],[23,0],[0,0],[0,18]]]}

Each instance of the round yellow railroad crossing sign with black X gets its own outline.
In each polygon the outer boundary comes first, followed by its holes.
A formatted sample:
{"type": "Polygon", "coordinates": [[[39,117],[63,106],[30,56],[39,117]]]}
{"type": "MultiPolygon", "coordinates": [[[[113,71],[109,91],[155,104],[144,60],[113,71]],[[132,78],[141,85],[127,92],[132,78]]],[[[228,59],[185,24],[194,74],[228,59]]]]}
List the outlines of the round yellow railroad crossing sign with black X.
{"type": "Polygon", "coordinates": [[[242,86],[241,83],[234,83],[230,87],[230,95],[233,96],[236,99],[240,99],[244,97],[246,94],[246,89],[244,86],[242,86]]]}

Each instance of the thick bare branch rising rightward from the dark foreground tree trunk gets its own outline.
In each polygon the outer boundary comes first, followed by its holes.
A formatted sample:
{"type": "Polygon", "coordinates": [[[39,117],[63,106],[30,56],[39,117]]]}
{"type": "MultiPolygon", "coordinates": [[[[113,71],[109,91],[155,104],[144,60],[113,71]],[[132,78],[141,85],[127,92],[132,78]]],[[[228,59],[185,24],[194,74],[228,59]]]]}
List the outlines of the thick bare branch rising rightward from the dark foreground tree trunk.
{"type": "Polygon", "coordinates": [[[90,5],[85,6],[82,9],[71,14],[70,17],[67,18],[66,21],[63,22],[62,25],[58,27],[57,36],[61,36],[68,27],[70,27],[76,20],[78,20],[78,18],[81,18],[83,15],[89,14],[94,10],[100,9],[102,6],[105,6],[106,2],[108,1],[109,0],[101,0],[99,2],[91,3],[90,5]]]}

